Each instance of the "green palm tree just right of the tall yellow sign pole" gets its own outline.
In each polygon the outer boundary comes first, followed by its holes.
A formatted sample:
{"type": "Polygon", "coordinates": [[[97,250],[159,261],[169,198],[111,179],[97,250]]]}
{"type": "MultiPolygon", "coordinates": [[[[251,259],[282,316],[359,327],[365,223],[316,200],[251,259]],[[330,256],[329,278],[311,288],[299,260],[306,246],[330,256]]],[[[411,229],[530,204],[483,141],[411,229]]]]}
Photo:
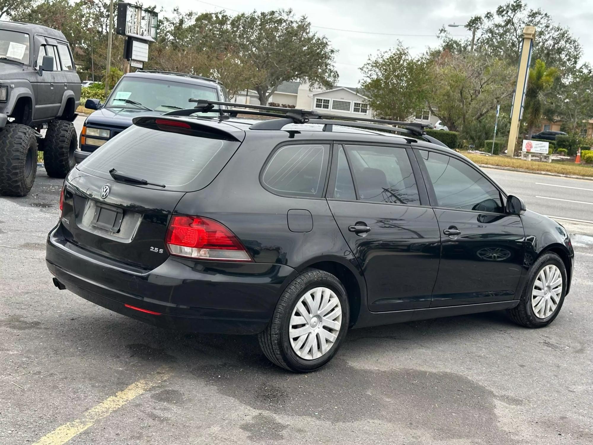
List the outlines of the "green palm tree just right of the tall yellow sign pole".
{"type": "Polygon", "coordinates": [[[529,69],[524,113],[530,139],[533,129],[540,123],[544,93],[552,87],[558,74],[557,68],[546,68],[546,63],[540,59],[537,59],[535,66],[529,69]]]}

